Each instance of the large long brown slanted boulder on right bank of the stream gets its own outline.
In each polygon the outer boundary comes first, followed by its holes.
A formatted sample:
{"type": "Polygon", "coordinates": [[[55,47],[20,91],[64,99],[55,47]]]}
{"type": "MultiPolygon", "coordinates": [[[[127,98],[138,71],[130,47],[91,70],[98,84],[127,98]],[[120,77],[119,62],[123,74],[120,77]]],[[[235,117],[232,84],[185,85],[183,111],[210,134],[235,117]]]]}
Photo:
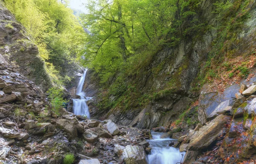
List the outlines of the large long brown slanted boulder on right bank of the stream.
{"type": "Polygon", "coordinates": [[[230,119],[230,116],[218,115],[209,124],[189,135],[190,142],[187,150],[207,149],[221,134],[224,124],[227,123],[228,119],[230,119]]]}

